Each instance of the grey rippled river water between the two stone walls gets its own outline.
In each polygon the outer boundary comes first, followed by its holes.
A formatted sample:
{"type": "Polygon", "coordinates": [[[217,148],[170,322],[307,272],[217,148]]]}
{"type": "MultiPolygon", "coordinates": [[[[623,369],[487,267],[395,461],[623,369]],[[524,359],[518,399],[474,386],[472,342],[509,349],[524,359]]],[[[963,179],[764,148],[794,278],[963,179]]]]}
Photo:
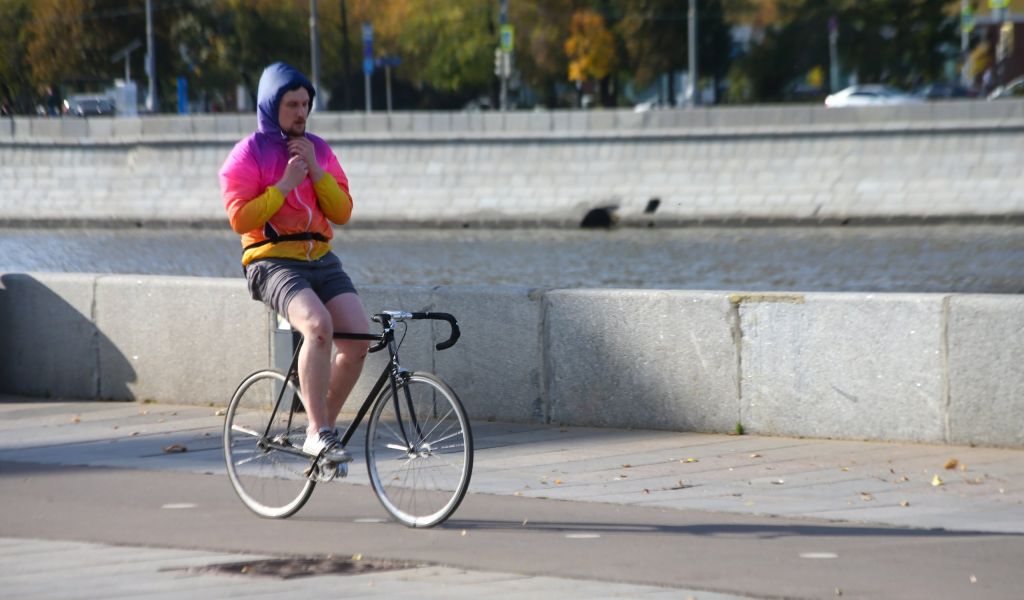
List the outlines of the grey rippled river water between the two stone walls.
{"type": "MultiPolygon", "coordinates": [[[[1013,224],[673,229],[346,229],[356,286],[1024,293],[1013,224]]],[[[0,228],[0,272],[242,276],[214,229],[0,228]]]]}

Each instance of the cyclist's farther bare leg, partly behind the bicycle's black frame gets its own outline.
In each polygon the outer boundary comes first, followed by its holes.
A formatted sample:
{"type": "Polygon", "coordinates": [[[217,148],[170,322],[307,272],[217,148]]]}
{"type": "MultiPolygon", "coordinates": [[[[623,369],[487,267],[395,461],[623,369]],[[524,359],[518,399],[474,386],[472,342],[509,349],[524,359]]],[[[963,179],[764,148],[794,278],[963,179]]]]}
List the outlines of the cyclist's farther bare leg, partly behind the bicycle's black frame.
{"type": "MultiPolygon", "coordinates": [[[[327,310],[334,322],[334,331],[352,334],[370,332],[362,302],[355,294],[335,296],[327,303],[327,310]]],[[[327,394],[327,423],[334,427],[341,413],[341,406],[348,399],[349,392],[362,373],[362,362],[367,357],[370,342],[362,340],[335,340],[338,353],[331,363],[331,385],[327,394]]]]}

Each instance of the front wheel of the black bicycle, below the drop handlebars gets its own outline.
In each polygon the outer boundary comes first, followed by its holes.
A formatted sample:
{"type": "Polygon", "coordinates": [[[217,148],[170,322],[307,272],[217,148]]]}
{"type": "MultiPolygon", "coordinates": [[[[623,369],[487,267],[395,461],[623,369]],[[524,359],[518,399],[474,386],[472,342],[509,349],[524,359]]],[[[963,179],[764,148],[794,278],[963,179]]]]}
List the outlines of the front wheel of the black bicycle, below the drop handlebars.
{"type": "Polygon", "coordinates": [[[437,377],[414,373],[377,397],[367,429],[370,482],[387,512],[432,527],[459,508],[473,472],[473,435],[462,403],[437,377]]]}

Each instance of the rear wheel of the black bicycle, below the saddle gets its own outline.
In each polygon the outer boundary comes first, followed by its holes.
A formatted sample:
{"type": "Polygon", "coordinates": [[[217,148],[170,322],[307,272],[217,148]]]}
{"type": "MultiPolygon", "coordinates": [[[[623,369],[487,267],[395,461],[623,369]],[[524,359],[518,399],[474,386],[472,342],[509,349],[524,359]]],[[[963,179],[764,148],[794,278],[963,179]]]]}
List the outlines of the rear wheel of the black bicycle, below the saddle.
{"type": "Polygon", "coordinates": [[[286,383],[283,374],[264,370],[247,377],[227,405],[224,418],[227,476],[242,502],[262,517],[285,518],[295,514],[309,500],[316,484],[305,474],[310,459],[299,452],[306,437],[305,413],[292,411],[293,402],[301,401],[299,398],[293,380],[286,383]],[[283,385],[287,388],[281,395],[281,406],[273,413],[283,385]],[[286,452],[288,448],[294,453],[286,452]]]}

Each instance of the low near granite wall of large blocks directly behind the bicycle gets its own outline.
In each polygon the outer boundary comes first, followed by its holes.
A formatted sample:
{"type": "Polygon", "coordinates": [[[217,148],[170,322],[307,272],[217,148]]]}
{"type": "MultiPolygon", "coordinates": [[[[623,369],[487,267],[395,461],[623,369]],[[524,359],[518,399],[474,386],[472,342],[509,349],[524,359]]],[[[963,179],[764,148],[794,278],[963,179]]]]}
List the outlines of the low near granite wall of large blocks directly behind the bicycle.
{"type": "MultiPolygon", "coordinates": [[[[474,419],[1024,447],[1024,298],[368,287],[474,419]],[[432,328],[437,328],[433,331],[432,328]]],[[[0,393],[226,404],[276,335],[240,278],[0,275],[0,393]]],[[[367,372],[381,368],[371,355],[367,372]]],[[[360,382],[356,397],[373,377],[360,382]]]]}

